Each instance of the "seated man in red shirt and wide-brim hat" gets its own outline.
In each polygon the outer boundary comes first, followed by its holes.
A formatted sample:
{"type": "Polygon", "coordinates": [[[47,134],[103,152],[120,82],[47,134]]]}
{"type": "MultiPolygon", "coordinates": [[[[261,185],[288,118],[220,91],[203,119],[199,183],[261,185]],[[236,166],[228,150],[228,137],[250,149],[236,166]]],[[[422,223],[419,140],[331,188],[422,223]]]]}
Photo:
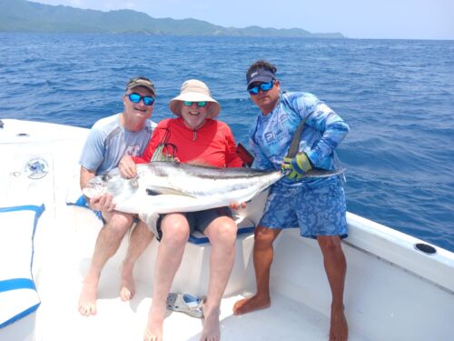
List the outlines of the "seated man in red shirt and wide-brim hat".
{"type": "MultiPolygon", "coordinates": [[[[141,157],[128,160],[128,156],[125,156],[123,165],[128,166],[120,167],[124,176],[135,175],[132,161],[147,163],[152,157],[159,159],[163,155],[171,155],[182,163],[216,167],[242,166],[242,160],[236,155],[232,130],[225,123],[213,119],[219,115],[221,105],[212,98],[207,85],[195,79],[184,82],[180,95],[170,101],[169,107],[177,117],[165,119],[157,125],[141,157]]],[[[152,229],[155,227],[152,222],[150,225],[152,229]]],[[[235,255],[237,226],[232,219],[230,208],[219,207],[200,212],[165,215],[160,226],[156,227],[154,232],[161,239],[161,243],[156,259],[153,303],[145,340],[161,340],[163,337],[166,298],[182,261],[189,234],[195,229],[208,236],[212,244],[210,280],[207,299],[203,305],[201,339],[219,339],[221,299],[235,255]]]]}

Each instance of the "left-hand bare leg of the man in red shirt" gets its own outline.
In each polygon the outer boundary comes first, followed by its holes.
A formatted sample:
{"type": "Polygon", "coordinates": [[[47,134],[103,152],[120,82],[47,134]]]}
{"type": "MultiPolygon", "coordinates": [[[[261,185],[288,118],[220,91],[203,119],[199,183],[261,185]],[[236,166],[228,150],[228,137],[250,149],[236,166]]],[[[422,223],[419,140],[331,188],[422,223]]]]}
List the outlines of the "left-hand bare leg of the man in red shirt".
{"type": "Polygon", "coordinates": [[[154,266],[153,302],[148,316],[144,340],[163,340],[163,320],[166,300],[172,286],[173,277],[180,267],[184,247],[189,238],[189,225],[181,214],[164,216],[163,238],[158,248],[154,266]]]}

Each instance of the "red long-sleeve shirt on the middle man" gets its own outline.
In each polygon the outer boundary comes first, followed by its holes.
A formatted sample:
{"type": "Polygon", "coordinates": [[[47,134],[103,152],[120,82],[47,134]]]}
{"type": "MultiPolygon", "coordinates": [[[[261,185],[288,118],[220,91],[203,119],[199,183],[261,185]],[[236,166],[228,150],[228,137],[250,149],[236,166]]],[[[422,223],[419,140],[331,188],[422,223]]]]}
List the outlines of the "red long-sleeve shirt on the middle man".
{"type": "Polygon", "coordinates": [[[133,157],[134,162],[150,162],[154,150],[162,143],[165,144],[163,153],[178,157],[182,163],[216,167],[242,166],[242,159],[236,155],[232,130],[218,120],[207,119],[200,129],[192,130],[184,125],[181,117],[164,119],[154,128],[143,155],[133,157]]]}

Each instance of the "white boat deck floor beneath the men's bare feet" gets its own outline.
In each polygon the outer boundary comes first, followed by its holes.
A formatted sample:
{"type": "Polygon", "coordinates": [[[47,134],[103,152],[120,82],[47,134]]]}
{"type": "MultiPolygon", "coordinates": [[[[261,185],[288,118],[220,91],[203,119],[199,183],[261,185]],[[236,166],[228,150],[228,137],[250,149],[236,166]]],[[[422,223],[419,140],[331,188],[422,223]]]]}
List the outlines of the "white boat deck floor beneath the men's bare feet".
{"type": "MultiPolygon", "coordinates": [[[[112,286],[106,286],[104,281],[100,287],[98,314],[90,317],[79,316],[76,310],[78,291],[65,291],[64,286],[55,288],[51,298],[43,298],[43,305],[37,313],[35,340],[142,340],[152,303],[151,287],[138,283],[136,296],[125,303],[118,298],[117,282],[113,279],[112,286]]],[[[241,298],[232,296],[222,300],[222,340],[328,339],[329,319],[288,297],[274,295],[270,308],[233,316],[232,306],[241,298]]],[[[195,341],[200,339],[201,331],[201,319],[168,312],[164,322],[164,340],[195,341]]],[[[350,340],[364,339],[350,335],[350,340]]]]}

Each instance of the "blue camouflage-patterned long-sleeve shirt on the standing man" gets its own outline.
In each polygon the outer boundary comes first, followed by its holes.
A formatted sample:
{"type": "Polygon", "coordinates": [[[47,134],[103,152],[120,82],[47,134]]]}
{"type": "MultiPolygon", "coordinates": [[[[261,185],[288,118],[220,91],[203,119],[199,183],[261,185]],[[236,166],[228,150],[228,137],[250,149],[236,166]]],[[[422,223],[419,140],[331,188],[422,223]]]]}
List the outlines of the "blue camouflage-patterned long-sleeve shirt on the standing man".
{"type": "MultiPolygon", "coordinates": [[[[269,115],[257,116],[250,131],[249,143],[255,156],[252,164],[257,169],[281,169],[293,135],[301,120],[311,115],[302,131],[299,152],[311,159],[312,165],[333,170],[337,156],[335,148],[349,132],[349,125],[343,122],[328,105],[310,93],[281,93],[276,107],[269,115]]],[[[333,178],[303,179],[307,186],[321,186],[333,178]]],[[[281,183],[292,185],[293,180],[284,177],[281,183]]]]}

